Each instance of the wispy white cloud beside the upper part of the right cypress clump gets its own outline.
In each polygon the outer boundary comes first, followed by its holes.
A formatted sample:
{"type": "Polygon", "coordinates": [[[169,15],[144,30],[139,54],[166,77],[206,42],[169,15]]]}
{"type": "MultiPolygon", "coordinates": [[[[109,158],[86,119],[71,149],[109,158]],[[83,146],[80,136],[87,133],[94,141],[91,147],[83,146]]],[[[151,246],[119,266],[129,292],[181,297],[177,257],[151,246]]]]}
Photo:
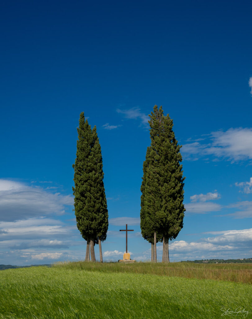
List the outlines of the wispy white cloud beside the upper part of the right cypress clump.
{"type": "Polygon", "coordinates": [[[252,128],[230,128],[227,131],[211,132],[207,144],[199,142],[184,144],[181,152],[185,159],[196,155],[213,155],[230,161],[252,159],[252,128]]]}

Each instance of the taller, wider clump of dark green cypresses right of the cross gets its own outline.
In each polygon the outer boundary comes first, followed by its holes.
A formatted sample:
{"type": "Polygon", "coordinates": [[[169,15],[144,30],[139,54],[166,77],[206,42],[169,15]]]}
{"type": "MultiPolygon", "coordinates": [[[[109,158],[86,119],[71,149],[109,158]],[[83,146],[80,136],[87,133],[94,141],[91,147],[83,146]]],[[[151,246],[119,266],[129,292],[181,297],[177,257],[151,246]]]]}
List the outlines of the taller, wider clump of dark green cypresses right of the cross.
{"type": "Polygon", "coordinates": [[[154,262],[157,241],[163,241],[162,261],[169,262],[168,241],[183,227],[185,211],[181,146],[172,130],[173,120],[163,115],[162,107],[155,105],[149,116],[151,145],[143,164],[140,226],[142,236],[154,248],[154,262]]]}

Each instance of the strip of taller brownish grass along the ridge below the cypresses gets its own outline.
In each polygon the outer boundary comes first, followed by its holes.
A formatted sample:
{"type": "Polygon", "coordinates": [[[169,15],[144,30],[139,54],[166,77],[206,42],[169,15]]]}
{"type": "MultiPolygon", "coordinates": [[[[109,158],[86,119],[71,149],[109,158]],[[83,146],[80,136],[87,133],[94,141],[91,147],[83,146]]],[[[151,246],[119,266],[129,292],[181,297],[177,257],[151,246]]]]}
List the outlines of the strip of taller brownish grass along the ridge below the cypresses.
{"type": "Polygon", "coordinates": [[[160,276],[224,280],[252,284],[252,264],[196,263],[92,263],[85,261],[59,262],[53,267],[99,272],[126,272],[160,276]]]}

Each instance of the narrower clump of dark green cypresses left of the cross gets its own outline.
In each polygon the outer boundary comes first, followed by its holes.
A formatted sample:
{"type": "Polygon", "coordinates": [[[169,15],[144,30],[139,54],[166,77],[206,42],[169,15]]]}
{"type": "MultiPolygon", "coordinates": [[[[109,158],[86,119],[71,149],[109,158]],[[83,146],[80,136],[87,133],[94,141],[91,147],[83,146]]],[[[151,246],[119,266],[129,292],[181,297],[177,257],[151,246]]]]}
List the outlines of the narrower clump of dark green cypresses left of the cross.
{"type": "Polygon", "coordinates": [[[80,114],[74,168],[74,209],[78,230],[87,241],[85,260],[95,261],[94,245],[106,240],[108,211],[103,184],[102,156],[96,126],[91,130],[84,113],[80,114]]]}

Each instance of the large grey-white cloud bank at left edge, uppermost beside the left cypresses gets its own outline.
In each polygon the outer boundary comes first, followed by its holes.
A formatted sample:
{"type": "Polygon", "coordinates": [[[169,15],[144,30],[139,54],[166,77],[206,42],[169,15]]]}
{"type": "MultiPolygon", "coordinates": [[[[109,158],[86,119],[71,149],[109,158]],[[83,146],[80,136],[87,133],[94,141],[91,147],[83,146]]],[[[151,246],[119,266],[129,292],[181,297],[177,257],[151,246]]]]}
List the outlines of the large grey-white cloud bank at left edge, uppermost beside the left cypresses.
{"type": "Polygon", "coordinates": [[[12,221],[48,214],[64,214],[73,205],[72,195],[51,193],[40,187],[0,180],[0,220],[12,221]]]}

